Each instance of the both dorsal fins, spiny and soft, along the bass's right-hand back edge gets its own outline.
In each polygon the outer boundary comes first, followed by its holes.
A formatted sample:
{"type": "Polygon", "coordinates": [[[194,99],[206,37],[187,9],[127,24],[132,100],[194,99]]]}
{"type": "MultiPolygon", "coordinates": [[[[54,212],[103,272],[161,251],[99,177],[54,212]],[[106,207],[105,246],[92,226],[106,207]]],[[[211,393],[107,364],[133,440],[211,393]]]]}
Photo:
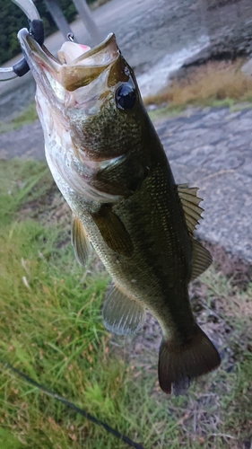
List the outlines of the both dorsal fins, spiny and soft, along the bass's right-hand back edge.
{"type": "Polygon", "coordinates": [[[189,188],[188,184],[178,185],[178,196],[182,203],[187,228],[191,235],[193,245],[191,281],[204,273],[204,271],[208,269],[212,263],[212,256],[210,252],[207,251],[201,243],[197,242],[193,237],[196,225],[198,225],[198,221],[203,218],[201,214],[204,211],[204,209],[199,206],[202,198],[198,198],[196,196],[197,190],[198,189],[196,187],[189,188]]]}

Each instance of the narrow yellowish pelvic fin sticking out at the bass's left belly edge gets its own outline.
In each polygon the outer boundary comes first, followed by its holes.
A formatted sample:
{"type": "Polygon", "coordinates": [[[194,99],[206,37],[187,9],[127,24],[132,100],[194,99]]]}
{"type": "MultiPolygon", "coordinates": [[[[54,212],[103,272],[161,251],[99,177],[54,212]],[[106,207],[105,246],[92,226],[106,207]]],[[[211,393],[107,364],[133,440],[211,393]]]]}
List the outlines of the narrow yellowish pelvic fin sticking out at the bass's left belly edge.
{"type": "Polygon", "coordinates": [[[77,262],[80,265],[86,265],[91,254],[91,243],[81,220],[77,216],[74,216],[72,224],[72,245],[74,246],[74,254],[77,262]]]}

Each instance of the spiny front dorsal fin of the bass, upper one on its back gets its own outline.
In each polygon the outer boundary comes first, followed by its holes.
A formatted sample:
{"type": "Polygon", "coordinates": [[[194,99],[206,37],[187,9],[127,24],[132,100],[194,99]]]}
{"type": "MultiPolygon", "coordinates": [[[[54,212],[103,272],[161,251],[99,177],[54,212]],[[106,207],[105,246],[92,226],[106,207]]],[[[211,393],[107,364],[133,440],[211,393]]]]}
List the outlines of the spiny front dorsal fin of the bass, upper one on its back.
{"type": "Polygon", "coordinates": [[[202,218],[201,214],[204,211],[204,209],[199,206],[202,198],[196,196],[197,190],[196,187],[189,188],[188,184],[178,185],[178,196],[185,213],[189,233],[194,233],[196,225],[198,225],[198,221],[202,218]]]}

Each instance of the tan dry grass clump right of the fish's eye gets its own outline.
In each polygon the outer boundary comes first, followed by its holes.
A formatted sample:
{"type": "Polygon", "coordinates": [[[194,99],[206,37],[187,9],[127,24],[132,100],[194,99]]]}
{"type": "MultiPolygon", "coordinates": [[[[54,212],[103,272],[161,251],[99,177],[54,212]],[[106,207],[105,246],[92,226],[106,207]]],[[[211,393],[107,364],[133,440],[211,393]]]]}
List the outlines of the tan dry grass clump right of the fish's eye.
{"type": "Polygon", "coordinates": [[[172,106],[188,103],[207,104],[213,101],[233,99],[245,101],[252,99],[252,77],[248,78],[240,71],[244,60],[209,61],[202,66],[189,67],[169,86],[145,99],[145,104],[172,106]]]}

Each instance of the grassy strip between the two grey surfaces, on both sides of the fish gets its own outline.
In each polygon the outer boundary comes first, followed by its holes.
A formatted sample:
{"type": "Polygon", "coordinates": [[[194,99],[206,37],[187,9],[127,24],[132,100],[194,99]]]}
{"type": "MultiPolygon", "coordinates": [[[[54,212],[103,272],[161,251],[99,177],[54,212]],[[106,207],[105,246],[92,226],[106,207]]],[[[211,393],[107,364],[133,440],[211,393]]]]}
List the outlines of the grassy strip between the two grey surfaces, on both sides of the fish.
{"type": "MultiPolygon", "coordinates": [[[[98,0],[97,4],[108,0],[98,0]]],[[[92,4],[93,7],[96,3],[92,4]]],[[[98,6],[97,6],[98,7],[98,6]]],[[[229,107],[233,110],[252,106],[252,77],[241,72],[244,58],[235,61],[208,61],[204,65],[189,67],[161,92],[144,98],[152,120],[178,115],[188,106],[229,107]]],[[[0,122],[0,134],[21,128],[38,119],[35,102],[17,117],[0,122]]]]}

